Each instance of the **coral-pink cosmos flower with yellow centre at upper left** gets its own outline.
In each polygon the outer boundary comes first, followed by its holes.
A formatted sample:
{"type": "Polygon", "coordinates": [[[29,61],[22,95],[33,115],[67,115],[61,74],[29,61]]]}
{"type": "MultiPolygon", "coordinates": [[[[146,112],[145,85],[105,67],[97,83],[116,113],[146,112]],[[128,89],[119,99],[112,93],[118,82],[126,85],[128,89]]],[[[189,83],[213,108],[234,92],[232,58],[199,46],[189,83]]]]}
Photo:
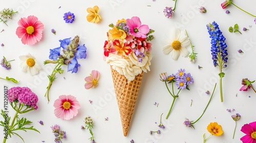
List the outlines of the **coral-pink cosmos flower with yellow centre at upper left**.
{"type": "Polygon", "coordinates": [[[18,21],[18,26],[16,35],[18,38],[22,38],[23,44],[33,45],[41,40],[44,25],[38,21],[36,16],[30,15],[27,18],[21,18],[18,21]]]}

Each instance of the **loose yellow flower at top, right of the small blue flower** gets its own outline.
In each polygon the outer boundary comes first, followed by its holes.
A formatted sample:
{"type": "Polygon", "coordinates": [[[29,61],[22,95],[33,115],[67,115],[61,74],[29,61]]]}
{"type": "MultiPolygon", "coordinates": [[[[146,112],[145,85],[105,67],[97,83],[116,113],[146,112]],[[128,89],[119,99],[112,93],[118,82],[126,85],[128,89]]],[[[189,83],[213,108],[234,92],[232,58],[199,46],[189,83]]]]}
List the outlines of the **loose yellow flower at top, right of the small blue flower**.
{"type": "Polygon", "coordinates": [[[101,20],[101,17],[98,14],[99,13],[99,7],[98,6],[94,6],[93,8],[87,8],[87,12],[89,13],[86,16],[87,21],[99,23],[99,21],[101,20]]]}

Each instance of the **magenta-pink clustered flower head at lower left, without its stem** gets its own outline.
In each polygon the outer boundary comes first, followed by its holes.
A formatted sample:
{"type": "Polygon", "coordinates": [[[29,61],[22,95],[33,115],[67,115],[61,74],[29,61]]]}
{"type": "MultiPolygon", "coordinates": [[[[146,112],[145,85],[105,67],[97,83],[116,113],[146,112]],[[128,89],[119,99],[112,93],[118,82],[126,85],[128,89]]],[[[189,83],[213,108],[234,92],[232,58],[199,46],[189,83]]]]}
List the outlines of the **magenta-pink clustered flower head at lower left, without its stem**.
{"type": "Polygon", "coordinates": [[[38,102],[37,95],[31,91],[28,87],[12,87],[8,90],[9,102],[19,102],[30,107],[34,107],[36,110],[38,107],[36,103],[38,102]]]}

